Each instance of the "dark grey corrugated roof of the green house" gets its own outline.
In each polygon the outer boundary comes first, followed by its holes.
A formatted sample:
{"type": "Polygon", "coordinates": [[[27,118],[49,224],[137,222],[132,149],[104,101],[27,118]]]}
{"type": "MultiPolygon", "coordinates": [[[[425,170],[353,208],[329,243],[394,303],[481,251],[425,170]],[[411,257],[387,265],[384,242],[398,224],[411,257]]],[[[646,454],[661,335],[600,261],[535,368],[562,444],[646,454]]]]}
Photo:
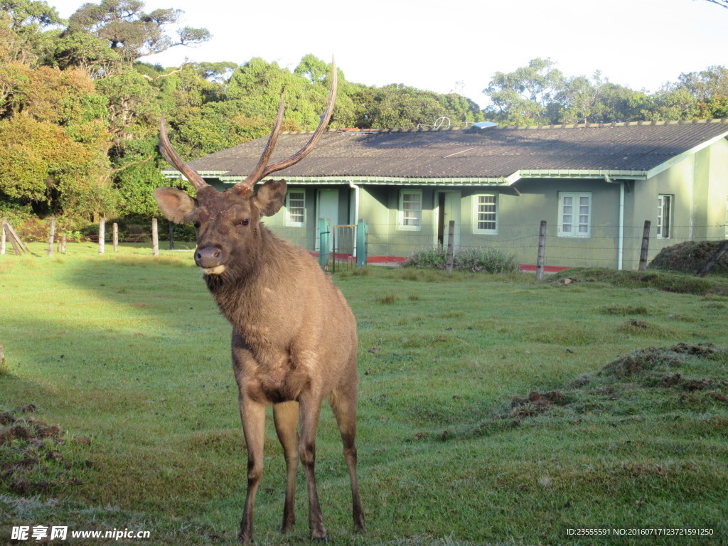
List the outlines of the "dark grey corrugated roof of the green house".
{"type": "MultiPolygon", "coordinates": [[[[491,127],[468,130],[362,130],[324,133],[285,176],[502,178],[519,170],[647,171],[728,134],[728,119],[695,122],[491,127]]],[[[284,132],[272,161],[289,157],[310,133],[284,132]]],[[[190,163],[200,172],[247,175],[266,138],[190,163]]]]}

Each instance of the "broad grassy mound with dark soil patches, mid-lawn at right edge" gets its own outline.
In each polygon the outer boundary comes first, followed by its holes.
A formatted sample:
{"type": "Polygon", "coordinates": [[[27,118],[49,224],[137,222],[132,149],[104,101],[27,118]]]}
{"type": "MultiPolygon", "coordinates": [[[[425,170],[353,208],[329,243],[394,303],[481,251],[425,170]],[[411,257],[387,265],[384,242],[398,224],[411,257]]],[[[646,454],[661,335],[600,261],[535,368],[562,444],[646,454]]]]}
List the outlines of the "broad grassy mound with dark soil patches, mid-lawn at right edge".
{"type": "Polygon", "coordinates": [[[563,389],[511,396],[510,408],[494,408],[480,422],[418,432],[415,440],[494,435],[529,422],[535,426],[539,419],[555,427],[612,419],[616,426],[633,416],[649,416],[656,408],[686,419],[696,412],[722,415],[728,411],[726,365],[728,349],[711,343],[638,349],[579,376],[563,389]]]}

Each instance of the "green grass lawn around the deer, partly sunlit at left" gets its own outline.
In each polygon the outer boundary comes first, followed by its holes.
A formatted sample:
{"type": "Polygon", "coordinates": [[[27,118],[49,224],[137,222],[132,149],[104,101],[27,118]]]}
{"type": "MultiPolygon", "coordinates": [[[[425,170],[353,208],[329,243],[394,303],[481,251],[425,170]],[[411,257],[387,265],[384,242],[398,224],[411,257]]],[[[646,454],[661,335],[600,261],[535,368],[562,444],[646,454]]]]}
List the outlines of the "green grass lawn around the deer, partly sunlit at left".
{"type": "MultiPolygon", "coordinates": [[[[60,525],[150,531],[117,544],[234,543],[246,459],[230,328],[191,253],[31,251],[0,256],[0,542],[12,526],[60,525]]],[[[727,542],[724,280],[376,267],[334,280],[359,328],[368,532],[352,534],[327,408],[317,478],[332,542],[727,542]]],[[[259,545],[309,542],[303,472],[295,529],[277,531],[284,466],[269,419],[259,545]]]]}

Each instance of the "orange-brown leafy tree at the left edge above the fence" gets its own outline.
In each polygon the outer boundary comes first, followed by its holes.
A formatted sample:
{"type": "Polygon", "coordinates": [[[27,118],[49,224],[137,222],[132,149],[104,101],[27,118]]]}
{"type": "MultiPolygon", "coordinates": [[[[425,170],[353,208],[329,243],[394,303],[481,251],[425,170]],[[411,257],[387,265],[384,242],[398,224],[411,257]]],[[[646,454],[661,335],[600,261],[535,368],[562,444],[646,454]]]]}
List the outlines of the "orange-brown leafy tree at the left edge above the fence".
{"type": "Polygon", "coordinates": [[[108,205],[106,100],[77,70],[0,69],[0,193],[69,214],[108,205]]]}

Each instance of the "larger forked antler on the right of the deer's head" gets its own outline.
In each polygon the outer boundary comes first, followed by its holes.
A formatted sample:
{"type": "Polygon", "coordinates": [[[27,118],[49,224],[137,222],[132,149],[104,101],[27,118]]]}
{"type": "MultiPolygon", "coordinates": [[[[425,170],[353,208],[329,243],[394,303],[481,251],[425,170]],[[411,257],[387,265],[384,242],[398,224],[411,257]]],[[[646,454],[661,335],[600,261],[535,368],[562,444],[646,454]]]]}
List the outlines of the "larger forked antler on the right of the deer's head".
{"type": "Polygon", "coordinates": [[[248,178],[245,178],[244,181],[237,184],[237,186],[240,186],[241,188],[243,186],[247,186],[249,188],[253,188],[253,186],[256,185],[256,182],[261,181],[263,178],[265,178],[267,175],[271,173],[275,173],[277,170],[283,170],[285,168],[290,167],[291,165],[296,165],[301,159],[304,159],[312,149],[316,146],[319,139],[321,138],[321,135],[323,135],[323,132],[326,130],[326,127],[328,126],[328,122],[331,121],[331,114],[333,114],[333,105],[336,102],[336,87],[337,87],[337,74],[336,74],[336,61],[333,59],[331,60],[331,91],[328,94],[328,104],[326,105],[326,109],[324,113],[321,116],[321,121],[318,124],[318,127],[316,127],[316,130],[314,131],[314,134],[311,135],[311,138],[306,143],[306,145],[298,150],[295,154],[293,154],[288,159],[282,159],[281,161],[277,161],[275,163],[272,163],[271,165],[268,165],[268,160],[270,159],[271,155],[273,154],[273,149],[275,148],[275,144],[278,141],[278,135],[280,135],[280,127],[283,124],[283,111],[285,109],[285,102],[283,100],[283,93],[280,95],[280,108],[278,108],[278,115],[276,116],[275,123],[273,125],[273,130],[271,132],[270,137],[268,138],[268,143],[266,143],[266,148],[263,151],[263,154],[261,154],[261,159],[258,159],[258,164],[253,169],[253,172],[248,175],[248,178]]]}

